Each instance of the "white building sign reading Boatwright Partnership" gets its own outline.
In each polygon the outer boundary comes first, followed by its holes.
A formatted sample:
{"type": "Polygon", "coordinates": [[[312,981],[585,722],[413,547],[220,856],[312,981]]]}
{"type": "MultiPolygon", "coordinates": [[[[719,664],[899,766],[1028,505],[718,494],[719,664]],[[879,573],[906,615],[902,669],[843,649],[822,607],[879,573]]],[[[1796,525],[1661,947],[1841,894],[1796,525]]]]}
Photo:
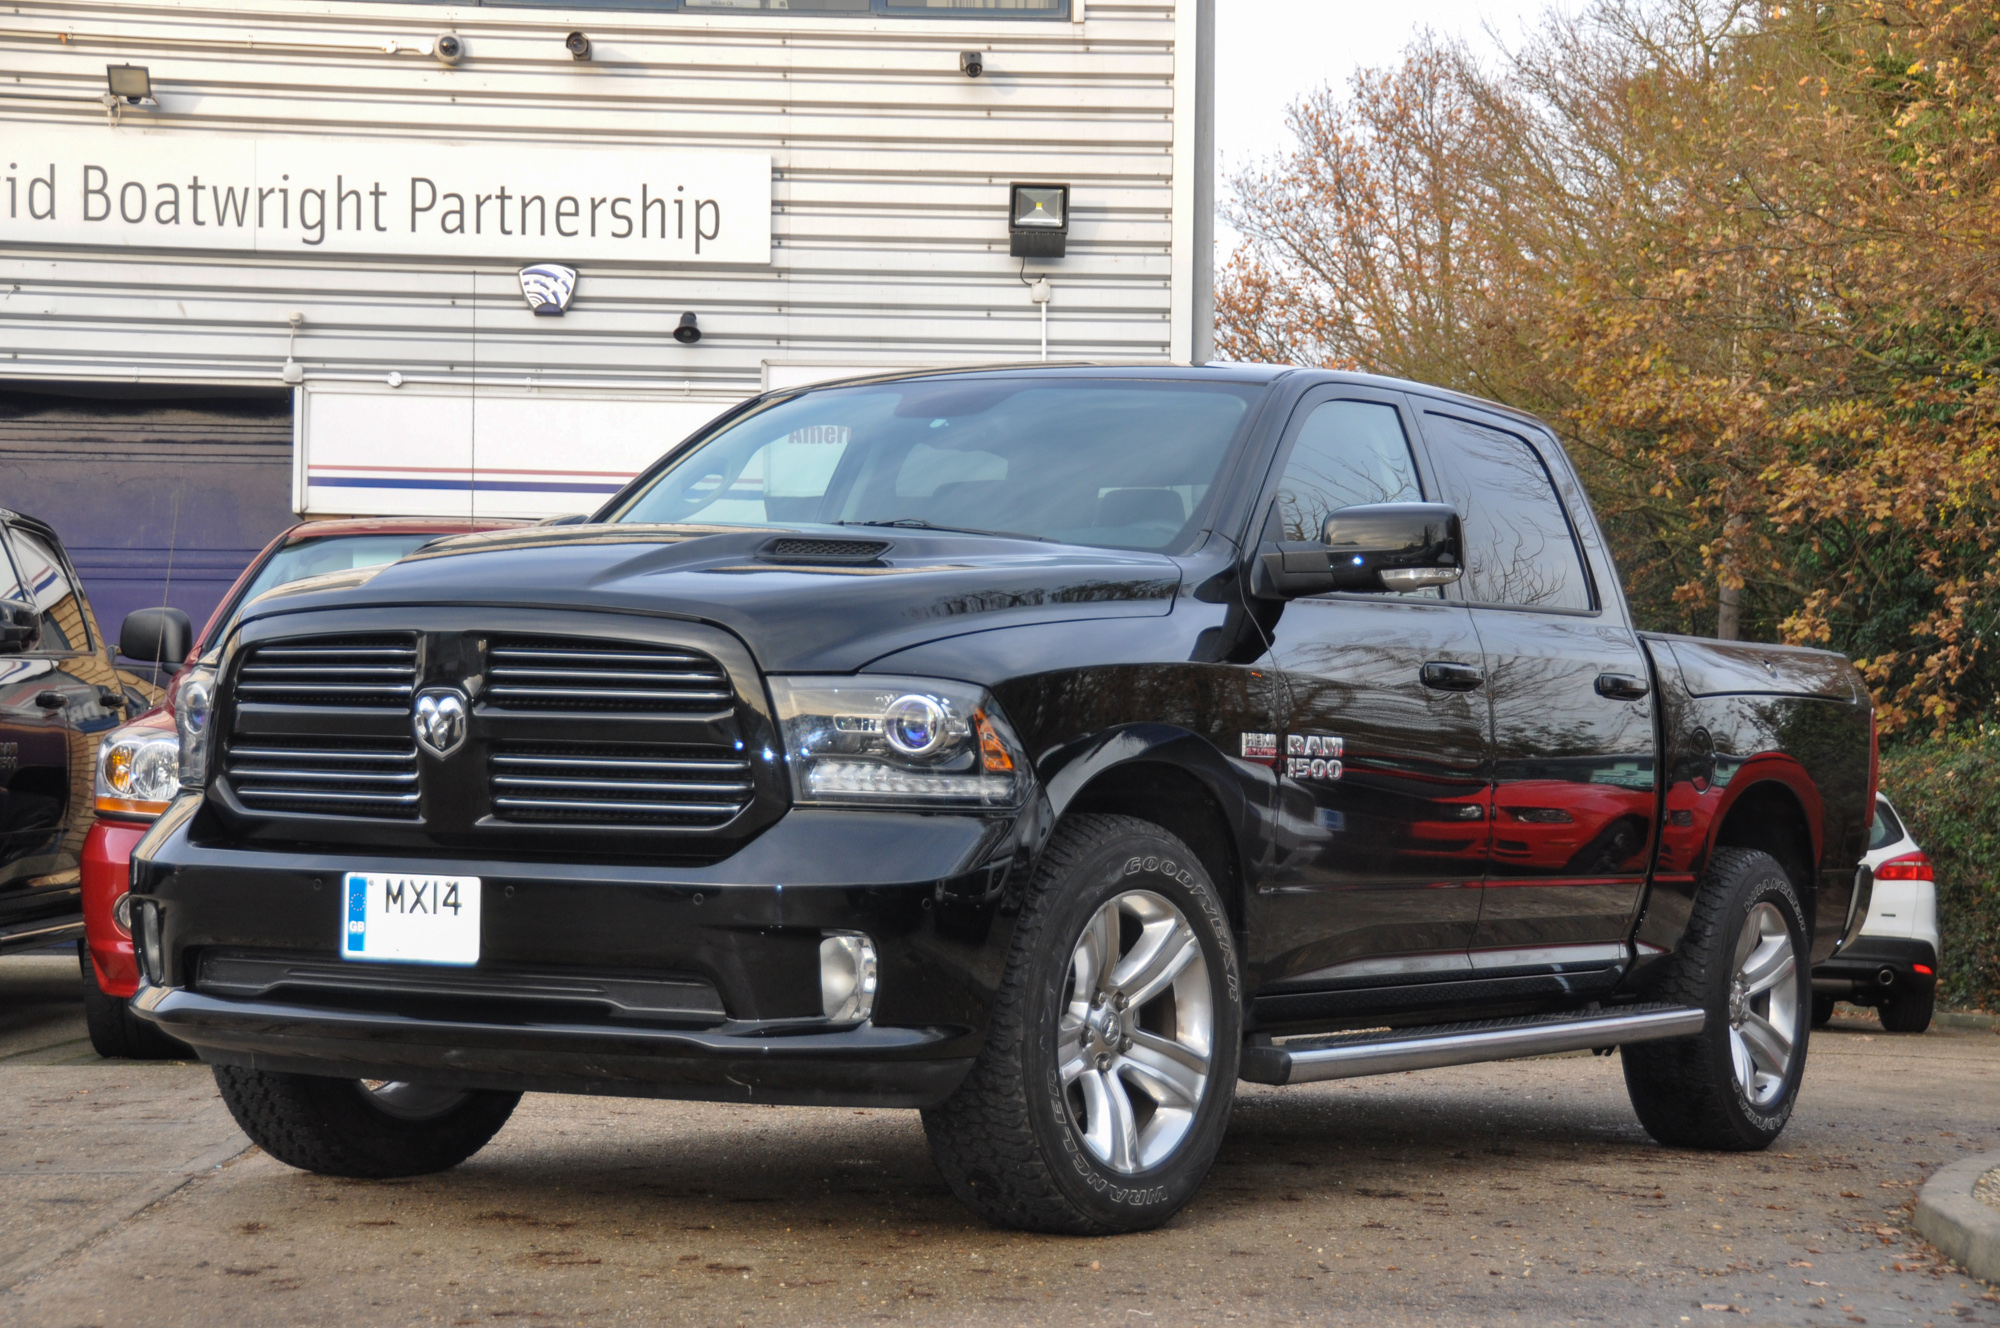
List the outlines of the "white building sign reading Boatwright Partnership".
{"type": "Polygon", "coordinates": [[[0,244],[768,264],[770,156],[8,126],[0,244]]]}

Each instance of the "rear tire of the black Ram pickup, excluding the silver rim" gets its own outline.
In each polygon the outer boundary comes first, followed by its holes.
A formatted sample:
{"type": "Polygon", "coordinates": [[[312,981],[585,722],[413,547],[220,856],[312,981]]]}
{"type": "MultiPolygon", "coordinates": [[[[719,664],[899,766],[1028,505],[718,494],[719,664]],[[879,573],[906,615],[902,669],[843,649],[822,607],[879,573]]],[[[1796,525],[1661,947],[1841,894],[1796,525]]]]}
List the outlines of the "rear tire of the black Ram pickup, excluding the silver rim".
{"type": "Polygon", "coordinates": [[[1792,1118],[1806,1072],[1812,1026],[1812,964],[1798,890],[1778,860],[1748,848],[1718,848],[1694,896],[1680,948],[1668,958],[1660,1000],[1700,1006],[1708,1026],[1692,1038],[1620,1048],[1626,1092],[1646,1134],[1670,1148],[1756,1152],[1792,1118]],[[1736,940],[1758,904],[1772,904],[1792,936],[1798,1028],[1784,1086],[1770,1106],[1750,1102],[1730,1060],[1730,982],[1736,940]]]}

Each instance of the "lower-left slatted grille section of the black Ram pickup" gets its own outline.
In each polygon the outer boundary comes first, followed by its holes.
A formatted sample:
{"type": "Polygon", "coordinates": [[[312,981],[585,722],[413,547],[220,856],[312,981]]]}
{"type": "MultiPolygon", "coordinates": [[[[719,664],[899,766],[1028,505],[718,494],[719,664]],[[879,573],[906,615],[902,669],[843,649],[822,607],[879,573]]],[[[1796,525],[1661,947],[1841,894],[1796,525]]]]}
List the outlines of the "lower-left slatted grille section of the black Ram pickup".
{"type": "Polygon", "coordinates": [[[390,738],[238,736],[230,788],[258,812],[416,818],[416,744],[390,738]]]}

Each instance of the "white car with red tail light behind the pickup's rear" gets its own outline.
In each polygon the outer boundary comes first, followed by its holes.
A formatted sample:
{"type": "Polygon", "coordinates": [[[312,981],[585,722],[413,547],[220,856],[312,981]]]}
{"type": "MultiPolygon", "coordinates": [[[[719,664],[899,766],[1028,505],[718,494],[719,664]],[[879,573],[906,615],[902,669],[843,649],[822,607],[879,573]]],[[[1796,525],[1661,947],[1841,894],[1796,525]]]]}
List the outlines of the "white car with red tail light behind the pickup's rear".
{"type": "Polygon", "coordinates": [[[1938,998],[1938,882],[1882,794],[1862,862],[1876,878],[1868,922],[1852,946],[1812,970],[1812,1024],[1846,1000],[1874,1006],[1890,1032],[1924,1032],[1938,998]]]}

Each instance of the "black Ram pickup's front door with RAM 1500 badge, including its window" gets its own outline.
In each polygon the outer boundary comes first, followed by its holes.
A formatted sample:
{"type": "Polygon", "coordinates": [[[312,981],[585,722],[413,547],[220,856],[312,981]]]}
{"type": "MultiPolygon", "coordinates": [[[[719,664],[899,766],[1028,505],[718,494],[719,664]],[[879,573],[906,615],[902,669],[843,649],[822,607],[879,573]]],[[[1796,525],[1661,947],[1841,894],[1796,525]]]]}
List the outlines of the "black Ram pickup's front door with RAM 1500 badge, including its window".
{"type": "MultiPolygon", "coordinates": [[[[1344,506],[1422,502],[1408,424],[1396,394],[1308,396],[1278,452],[1266,540],[1318,540],[1344,506]]],[[[1268,660],[1282,732],[1278,848],[1250,928],[1260,1016],[1322,1018],[1356,1000],[1330,994],[1462,976],[1488,834],[1470,612],[1438,590],[1308,596],[1284,606],[1268,660]]]]}

